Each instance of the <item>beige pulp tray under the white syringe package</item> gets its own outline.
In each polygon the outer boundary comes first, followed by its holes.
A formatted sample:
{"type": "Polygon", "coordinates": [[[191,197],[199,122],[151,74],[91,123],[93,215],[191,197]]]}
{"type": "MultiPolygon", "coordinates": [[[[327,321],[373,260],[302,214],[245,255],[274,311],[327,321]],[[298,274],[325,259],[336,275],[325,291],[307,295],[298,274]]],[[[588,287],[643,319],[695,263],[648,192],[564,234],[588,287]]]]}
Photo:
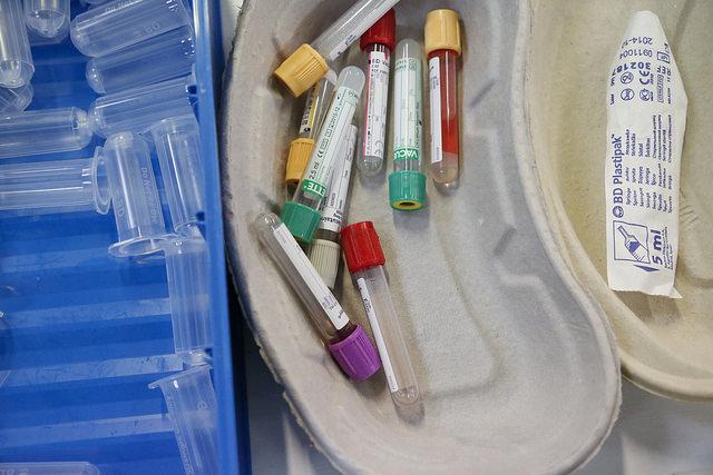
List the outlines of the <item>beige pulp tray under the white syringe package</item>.
{"type": "Polygon", "coordinates": [[[624,374],[656,394],[707,400],[713,399],[712,14],[713,2],[534,2],[522,98],[524,133],[533,146],[521,155],[558,251],[577,285],[600,304],[597,314],[609,317],[624,374]],[[683,298],[675,300],[614,293],[606,284],[606,85],[608,66],[637,10],[661,19],[688,96],[675,281],[683,298]]]}

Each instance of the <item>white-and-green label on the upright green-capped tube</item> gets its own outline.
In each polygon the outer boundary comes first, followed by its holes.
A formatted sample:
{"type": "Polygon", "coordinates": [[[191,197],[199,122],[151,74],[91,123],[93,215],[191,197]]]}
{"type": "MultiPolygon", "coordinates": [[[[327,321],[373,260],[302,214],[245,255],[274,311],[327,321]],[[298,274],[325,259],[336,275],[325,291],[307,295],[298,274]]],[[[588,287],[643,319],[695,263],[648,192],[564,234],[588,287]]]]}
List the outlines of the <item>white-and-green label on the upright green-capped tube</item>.
{"type": "Polygon", "coordinates": [[[421,61],[401,58],[394,68],[393,159],[421,159],[421,61]]]}

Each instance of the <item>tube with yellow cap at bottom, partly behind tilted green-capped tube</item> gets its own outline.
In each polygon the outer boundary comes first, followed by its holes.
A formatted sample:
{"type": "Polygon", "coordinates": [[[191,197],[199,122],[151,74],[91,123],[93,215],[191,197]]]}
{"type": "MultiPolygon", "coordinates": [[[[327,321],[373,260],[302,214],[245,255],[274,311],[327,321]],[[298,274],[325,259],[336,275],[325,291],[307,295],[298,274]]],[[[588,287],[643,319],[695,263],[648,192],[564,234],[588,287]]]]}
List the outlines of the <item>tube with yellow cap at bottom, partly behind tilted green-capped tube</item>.
{"type": "Polygon", "coordinates": [[[285,184],[291,196],[294,195],[307,161],[310,161],[312,150],[314,150],[314,138],[324,122],[335,83],[336,73],[330,70],[307,93],[304,113],[300,122],[300,135],[290,144],[287,166],[285,167],[285,184]]]}

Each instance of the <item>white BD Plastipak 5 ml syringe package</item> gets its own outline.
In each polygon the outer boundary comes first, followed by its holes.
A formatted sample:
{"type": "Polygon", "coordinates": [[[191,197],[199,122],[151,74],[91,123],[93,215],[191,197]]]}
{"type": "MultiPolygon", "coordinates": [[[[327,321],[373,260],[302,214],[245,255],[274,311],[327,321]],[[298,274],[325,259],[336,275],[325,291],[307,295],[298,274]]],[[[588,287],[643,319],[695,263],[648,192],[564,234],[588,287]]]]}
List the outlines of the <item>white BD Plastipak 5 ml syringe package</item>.
{"type": "Polygon", "coordinates": [[[609,287],[681,297],[673,284],[687,98],[654,13],[632,17],[612,63],[606,100],[609,287]]]}

